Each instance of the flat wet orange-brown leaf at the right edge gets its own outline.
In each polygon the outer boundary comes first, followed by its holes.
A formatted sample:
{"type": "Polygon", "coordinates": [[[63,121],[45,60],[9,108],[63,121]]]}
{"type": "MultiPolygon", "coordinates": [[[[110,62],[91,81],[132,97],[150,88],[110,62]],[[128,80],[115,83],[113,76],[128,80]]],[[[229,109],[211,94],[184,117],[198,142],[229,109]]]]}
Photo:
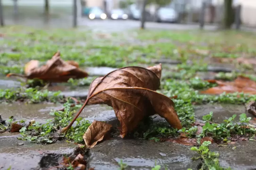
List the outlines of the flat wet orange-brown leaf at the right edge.
{"type": "Polygon", "coordinates": [[[202,94],[221,94],[234,93],[234,92],[244,92],[248,94],[256,94],[256,82],[251,79],[238,76],[233,82],[223,82],[218,80],[206,80],[210,83],[217,83],[217,87],[211,87],[207,90],[201,91],[202,94]]]}

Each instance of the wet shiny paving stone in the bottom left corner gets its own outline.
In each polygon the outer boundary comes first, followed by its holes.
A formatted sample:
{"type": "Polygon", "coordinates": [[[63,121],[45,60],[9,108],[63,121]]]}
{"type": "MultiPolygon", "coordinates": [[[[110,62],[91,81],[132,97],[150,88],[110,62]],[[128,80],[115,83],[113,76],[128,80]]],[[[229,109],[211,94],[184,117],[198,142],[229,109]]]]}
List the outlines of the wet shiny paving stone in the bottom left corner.
{"type": "Polygon", "coordinates": [[[63,155],[75,151],[74,144],[66,142],[51,145],[33,144],[29,141],[18,140],[16,136],[0,138],[0,169],[27,170],[48,168],[62,160],[63,155]],[[20,143],[23,143],[19,146],[20,143]]]}

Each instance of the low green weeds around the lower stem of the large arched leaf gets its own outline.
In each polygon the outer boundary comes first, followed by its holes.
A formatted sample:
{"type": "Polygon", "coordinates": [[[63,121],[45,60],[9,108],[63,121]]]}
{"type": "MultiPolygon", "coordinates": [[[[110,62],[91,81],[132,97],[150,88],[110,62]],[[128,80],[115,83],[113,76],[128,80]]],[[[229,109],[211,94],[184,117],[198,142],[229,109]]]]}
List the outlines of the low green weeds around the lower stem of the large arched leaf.
{"type": "Polygon", "coordinates": [[[59,134],[58,130],[67,126],[73,119],[72,114],[79,107],[70,107],[70,103],[64,104],[64,111],[53,111],[50,115],[54,116],[54,120],[47,120],[46,124],[33,123],[28,128],[20,129],[21,140],[28,140],[35,143],[55,143],[59,139],[67,137],[69,142],[83,143],[83,134],[90,126],[90,122],[77,119],[77,124],[71,127],[66,136],[59,134]]]}

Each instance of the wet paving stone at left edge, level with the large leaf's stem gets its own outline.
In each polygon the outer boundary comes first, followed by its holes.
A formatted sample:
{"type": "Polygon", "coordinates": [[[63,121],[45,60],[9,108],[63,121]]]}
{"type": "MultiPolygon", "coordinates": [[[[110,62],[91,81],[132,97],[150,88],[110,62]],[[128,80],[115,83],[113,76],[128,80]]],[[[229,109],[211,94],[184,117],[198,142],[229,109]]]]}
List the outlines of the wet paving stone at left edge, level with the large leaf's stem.
{"type": "Polygon", "coordinates": [[[16,120],[32,120],[35,119],[39,123],[46,123],[47,119],[51,119],[49,115],[51,109],[56,110],[62,108],[60,104],[0,104],[0,115],[6,120],[10,116],[14,116],[16,120]]]}

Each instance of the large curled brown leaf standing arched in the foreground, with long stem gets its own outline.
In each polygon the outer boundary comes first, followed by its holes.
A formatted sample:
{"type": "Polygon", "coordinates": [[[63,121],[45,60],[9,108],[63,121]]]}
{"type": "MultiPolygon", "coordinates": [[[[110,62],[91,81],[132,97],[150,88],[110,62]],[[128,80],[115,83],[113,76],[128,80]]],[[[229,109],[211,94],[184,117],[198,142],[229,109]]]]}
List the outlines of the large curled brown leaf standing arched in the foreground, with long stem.
{"type": "MultiPolygon", "coordinates": [[[[145,116],[156,113],[172,127],[181,129],[173,101],[154,91],[160,86],[160,77],[161,64],[149,68],[124,67],[96,78],[90,85],[85,104],[74,120],[87,104],[107,104],[113,107],[120,121],[121,137],[132,131],[145,116]]],[[[74,120],[62,132],[69,129],[74,120]]]]}

